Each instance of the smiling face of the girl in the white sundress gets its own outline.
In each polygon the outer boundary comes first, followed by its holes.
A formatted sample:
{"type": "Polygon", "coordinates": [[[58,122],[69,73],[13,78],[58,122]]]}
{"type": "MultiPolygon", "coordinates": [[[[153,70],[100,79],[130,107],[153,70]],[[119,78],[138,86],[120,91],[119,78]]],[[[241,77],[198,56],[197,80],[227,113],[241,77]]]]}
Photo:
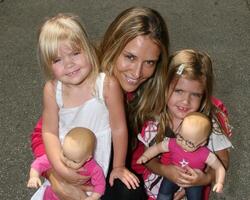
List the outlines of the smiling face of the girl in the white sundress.
{"type": "Polygon", "coordinates": [[[87,78],[91,69],[83,50],[74,50],[66,41],[59,43],[58,56],[52,63],[56,79],[64,84],[78,85],[87,78]]]}

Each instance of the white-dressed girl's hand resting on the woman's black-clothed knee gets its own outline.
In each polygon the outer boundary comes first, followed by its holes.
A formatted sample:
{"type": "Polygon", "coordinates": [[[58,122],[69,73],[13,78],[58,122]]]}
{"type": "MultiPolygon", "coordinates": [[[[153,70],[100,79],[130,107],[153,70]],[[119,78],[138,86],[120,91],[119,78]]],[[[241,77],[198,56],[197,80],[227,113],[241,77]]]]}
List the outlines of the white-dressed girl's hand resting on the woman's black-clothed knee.
{"type": "Polygon", "coordinates": [[[114,180],[116,178],[119,178],[126,186],[128,189],[136,189],[139,187],[139,179],[135,174],[130,172],[127,168],[125,167],[116,167],[113,168],[110,177],[109,177],[109,184],[113,186],[114,180]]]}

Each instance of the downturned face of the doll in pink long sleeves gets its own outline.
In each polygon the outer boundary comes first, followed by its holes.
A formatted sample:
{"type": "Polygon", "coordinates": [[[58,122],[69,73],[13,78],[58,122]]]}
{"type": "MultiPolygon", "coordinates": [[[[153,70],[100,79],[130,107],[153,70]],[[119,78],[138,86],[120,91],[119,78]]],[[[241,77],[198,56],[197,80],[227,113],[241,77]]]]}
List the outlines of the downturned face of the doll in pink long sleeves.
{"type": "Polygon", "coordinates": [[[69,141],[64,142],[61,152],[61,159],[67,167],[79,169],[91,157],[92,156],[89,154],[89,152],[84,152],[83,148],[72,146],[71,142],[69,141]]]}

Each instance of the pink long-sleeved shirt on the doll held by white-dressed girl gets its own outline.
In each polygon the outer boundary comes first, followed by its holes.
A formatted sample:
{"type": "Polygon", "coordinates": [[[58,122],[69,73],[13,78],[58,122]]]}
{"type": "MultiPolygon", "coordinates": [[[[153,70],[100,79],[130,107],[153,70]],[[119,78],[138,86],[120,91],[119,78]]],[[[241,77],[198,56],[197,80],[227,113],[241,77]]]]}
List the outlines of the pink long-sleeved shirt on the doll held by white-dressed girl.
{"type": "MultiPolygon", "coordinates": [[[[40,174],[47,171],[51,168],[51,164],[44,154],[38,158],[36,158],[31,167],[37,170],[40,174]]],[[[89,160],[86,162],[82,168],[84,168],[84,172],[81,172],[81,175],[90,176],[90,183],[93,185],[94,189],[93,192],[99,193],[101,195],[104,194],[105,191],[105,176],[102,171],[102,168],[97,164],[94,159],[89,160]]]]}

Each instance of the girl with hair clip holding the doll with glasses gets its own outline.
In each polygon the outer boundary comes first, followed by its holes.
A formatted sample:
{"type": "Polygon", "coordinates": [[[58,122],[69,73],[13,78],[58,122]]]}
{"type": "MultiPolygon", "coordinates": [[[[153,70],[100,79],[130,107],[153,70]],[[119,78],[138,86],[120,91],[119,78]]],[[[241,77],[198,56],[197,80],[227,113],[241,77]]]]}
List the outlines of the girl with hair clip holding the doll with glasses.
{"type": "MultiPolygon", "coordinates": [[[[229,165],[229,148],[232,147],[225,129],[217,119],[217,108],[213,104],[213,69],[208,54],[193,49],[184,49],[170,56],[166,79],[166,106],[157,123],[148,123],[138,136],[146,147],[163,141],[165,137],[176,137],[185,116],[191,112],[201,112],[212,120],[212,132],[208,148],[223,163],[229,165]],[[157,127],[157,128],[154,128],[157,127]],[[153,130],[153,131],[152,131],[153,130]],[[157,131],[158,130],[158,131],[157,131]]],[[[161,183],[160,177],[166,177],[180,187],[209,185],[215,179],[212,169],[203,173],[198,169],[182,169],[169,164],[169,154],[154,158],[146,164],[150,171],[144,171],[145,185],[150,199],[156,199],[161,183]],[[186,171],[188,169],[188,172],[186,171]]],[[[208,199],[204,192],[204,199],[208,199]]],[[[175,197],[176,199],[178,197],[175,197]]]]}

